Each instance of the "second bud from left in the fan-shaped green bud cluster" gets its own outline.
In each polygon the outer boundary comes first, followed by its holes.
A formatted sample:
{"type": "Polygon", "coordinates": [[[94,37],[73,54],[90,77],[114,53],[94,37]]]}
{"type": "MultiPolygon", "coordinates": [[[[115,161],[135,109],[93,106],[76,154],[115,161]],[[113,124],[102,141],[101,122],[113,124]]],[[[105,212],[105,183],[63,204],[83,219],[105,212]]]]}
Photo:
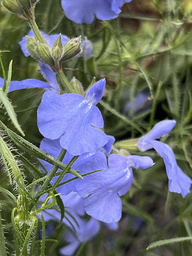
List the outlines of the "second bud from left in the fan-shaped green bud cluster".
{"type": "Polygon", "coordinates": [[[51,52],[45,44],[41,44],[38,41],[36,50],[38,52],[39,58],[43,63],[48,64],[50,67],[54,66],[55,62],[52,59],[51,52]]]}

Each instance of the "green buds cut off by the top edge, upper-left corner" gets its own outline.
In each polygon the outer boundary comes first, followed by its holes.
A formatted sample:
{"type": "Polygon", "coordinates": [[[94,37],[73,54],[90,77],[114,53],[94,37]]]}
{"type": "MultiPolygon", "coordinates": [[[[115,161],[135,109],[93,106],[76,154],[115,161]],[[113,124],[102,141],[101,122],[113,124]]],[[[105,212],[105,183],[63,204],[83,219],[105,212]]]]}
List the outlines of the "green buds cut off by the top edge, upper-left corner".
{"type": "Polygon", "coordinates": [[[28,11],[35,6],[39,0],[3,0],[3,6],[10,12],[22,15],[24,11],[28,11]]]}

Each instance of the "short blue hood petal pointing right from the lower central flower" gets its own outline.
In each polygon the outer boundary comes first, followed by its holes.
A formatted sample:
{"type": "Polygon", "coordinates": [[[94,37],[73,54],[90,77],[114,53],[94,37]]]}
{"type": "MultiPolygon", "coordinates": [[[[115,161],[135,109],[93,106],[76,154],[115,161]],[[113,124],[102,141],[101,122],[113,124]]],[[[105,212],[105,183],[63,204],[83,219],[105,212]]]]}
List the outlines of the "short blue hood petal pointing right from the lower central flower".
{"type": "Polygon", "coordinates": [[[133,167],[135,169],[146,169],[154,165],[151,157],[141,157],[141,156],[128,156],[127,159],[128,167],[133,167]]]}

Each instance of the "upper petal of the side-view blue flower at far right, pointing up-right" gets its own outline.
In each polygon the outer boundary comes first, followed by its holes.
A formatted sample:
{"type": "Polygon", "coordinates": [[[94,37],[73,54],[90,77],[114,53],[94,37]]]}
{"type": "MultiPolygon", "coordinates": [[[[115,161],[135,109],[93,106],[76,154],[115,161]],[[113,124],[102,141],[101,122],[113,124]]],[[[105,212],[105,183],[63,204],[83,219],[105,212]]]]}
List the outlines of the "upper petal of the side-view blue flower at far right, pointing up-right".
{"type": "Polygon", "coordinates": [[[168,132],[173,129],[175,124],[176,124],[175,120],[164,120],[164,121],[158,122],[154,126],[154,128],[150,132],[148,132],[148,134],[141,137],[141,139],[137,143],[138,148],[140,148],[140,150],[142,151],[152,148],[151,144],[148,143],[148,141],[156,140],[164,135],[167,135],[168,132]]]}

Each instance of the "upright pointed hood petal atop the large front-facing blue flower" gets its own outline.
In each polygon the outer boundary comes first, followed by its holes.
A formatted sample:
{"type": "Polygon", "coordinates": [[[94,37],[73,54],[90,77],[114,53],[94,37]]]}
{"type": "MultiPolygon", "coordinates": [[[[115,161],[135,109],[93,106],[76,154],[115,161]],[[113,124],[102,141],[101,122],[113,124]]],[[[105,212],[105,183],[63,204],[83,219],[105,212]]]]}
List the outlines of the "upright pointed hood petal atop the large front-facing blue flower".
{"type": "Polygon", "coordinates": [[[87,103],[96,105],[102,98],[105,90],[105,78],[93,84],[87,91],[85,99],[87,103]]]}

